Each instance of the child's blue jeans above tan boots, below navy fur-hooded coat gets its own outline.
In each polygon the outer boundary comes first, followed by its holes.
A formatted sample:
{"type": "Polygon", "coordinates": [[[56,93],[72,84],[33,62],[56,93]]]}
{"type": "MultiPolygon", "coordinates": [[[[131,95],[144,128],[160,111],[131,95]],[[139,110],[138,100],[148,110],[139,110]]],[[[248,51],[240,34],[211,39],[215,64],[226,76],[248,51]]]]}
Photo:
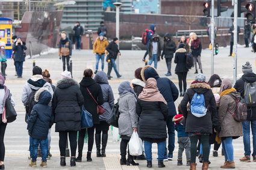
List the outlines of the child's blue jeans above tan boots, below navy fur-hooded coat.
{"type": "Polygon", "coordinates": [[[32,138],[32,160],[37,160],[37,148],[40,144],[41,152],[42,152],[42,160],[46,161],[46,157],[48,154],[48,139],[39,140],[32,138]]]}

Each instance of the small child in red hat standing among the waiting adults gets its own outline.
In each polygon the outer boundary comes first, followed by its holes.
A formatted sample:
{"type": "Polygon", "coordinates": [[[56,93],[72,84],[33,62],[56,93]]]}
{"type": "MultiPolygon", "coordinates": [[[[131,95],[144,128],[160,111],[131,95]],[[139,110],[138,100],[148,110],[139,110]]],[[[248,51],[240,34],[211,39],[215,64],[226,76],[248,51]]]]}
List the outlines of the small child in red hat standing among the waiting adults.
{"type": "Polygon", "coordinates": [[[183,114],[181,112],[181,106],[178,106],[178,115],[172,118],[172,121],[175,122],[175,130],[178,133],[178,162],[177,165],[183,165],[183,151],[186,151],[186,159],[187,159],[187,166],[190,166],[190,140],[189,134],[185,132],[185,127],[181,123],[184,119],[183,114]]]}

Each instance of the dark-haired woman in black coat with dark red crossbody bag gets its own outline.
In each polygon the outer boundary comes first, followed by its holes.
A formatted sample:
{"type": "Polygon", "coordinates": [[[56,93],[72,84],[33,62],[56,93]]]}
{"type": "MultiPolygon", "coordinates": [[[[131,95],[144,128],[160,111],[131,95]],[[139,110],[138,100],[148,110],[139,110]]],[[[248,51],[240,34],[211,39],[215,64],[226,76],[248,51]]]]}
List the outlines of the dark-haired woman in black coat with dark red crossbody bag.
{"type": "Polygon", "coordinates": [[[93,127],[87,129],[81,129],[78,137],[78,157],[76,157],[76,162],[82,161],[83,147],[84,147],[84,136],[86,136],[86,130],[88,133],[88,151],[87,151],[87,162],[92,161],[91,153],[94,142],[94,131],[95,125],[99,124],[99,115],[97,114],[97,104],[93,100],[98,102],[98,105],[104,103],[104,98],[101,90],[101,86],[95,82],[93,79],[93,71],[91,69],[84,70],[84,77],[80,82],[80,90],[84,97],[84,108],[93,118],[93,127]],[[90,91],[90,92],[89,92],[90,91]],[[90,93],[92,96],[90,96],[90,93]]]}

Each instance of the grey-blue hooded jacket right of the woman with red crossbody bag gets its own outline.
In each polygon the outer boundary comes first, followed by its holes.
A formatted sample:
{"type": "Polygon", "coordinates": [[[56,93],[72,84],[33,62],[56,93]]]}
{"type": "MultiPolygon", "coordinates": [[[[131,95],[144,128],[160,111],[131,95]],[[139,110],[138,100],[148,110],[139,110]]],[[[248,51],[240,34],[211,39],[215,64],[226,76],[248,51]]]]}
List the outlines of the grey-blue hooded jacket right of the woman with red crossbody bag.
{"type": "Polygon", "coordinates": [[[104,71],[98,71],[94,77],[94,80],[101,86],[104,100],[104,103],[101,106],[105,109],[105,112],[104,114],[99,115],[99,120],[105,121],[109,117],[114,106],[114,94],[112,88],[108,84],[107,74],[104,71]]]}

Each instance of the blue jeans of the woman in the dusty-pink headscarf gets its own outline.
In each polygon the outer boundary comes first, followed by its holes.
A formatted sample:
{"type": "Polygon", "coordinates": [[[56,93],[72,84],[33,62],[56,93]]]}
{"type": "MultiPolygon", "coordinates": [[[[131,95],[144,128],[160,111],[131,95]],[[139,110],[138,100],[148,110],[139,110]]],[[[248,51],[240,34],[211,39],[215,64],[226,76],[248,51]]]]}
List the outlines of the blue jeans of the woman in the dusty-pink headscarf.
{"type": "MultiPolygon", "coordinates": [[[[158,160],[164,160],[165,145],[165,141],[157,143],[158,160]]],[[[152,143],[144,141],[144,150],[146,154],[146,160],[152,160],[152,143]]]]}

